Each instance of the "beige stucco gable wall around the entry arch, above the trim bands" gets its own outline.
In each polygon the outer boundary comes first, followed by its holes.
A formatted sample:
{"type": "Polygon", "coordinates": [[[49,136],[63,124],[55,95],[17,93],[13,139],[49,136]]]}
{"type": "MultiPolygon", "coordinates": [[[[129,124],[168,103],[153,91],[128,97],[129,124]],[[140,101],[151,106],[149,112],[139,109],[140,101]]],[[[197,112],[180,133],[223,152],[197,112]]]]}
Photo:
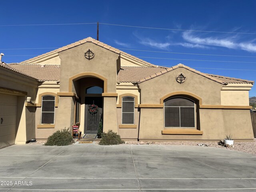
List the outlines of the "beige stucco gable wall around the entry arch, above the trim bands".
{"type": "MultiPolygon", "coordinates": [[[[60,92],[68,92],[69,78],[83,72],[92,72],[107,78],[108,92],[116,92],[118,54],[87,42],[74,48],[64,50],[60,52],[59,55],[61,58],[60,92]],[[94,58],[91,60],[84,57],[84,53],[88,49],[95,53],[94,58]]],[[[72,91],[75,91],[74,87],[72,91]]]]}

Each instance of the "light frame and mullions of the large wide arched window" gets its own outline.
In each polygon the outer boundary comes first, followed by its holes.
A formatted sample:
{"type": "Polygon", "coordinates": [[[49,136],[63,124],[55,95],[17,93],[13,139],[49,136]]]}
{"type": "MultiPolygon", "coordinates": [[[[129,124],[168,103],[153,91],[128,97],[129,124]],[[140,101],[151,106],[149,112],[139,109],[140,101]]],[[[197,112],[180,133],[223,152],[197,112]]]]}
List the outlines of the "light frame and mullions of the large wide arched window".
{"type": "MultiPolygon", "coordinates": [[[[164,103],[164,128],[196,129],[196,102],[195,102],[194,100],[192,100],[192,99],[190,99],[190,98],[187,98],[187,97],[184,97],[184,96],[176,96],[176,97],[167,98],[166,100],[163,101],[163,103],[164,103]],[[167,100],[174,99],[174,98],[184,98],[184,99],[190,100],[190,101],[192,101],[192,102],[194,103],[194,106],[165,106],[165,102],[166,102],[167,100]],[[166,126],[165,126],[165,108],[166,108],[166,107],[178,107],[178,108],[179,108],[179,113],[180,113],[180,108],[181,108],[181,107],[190,107],[190,108],[194,107],[194,127],[181,127],[181,126],[179,126],[179,127],[174,127],[174,126],[172,126],[172,127],[166,127],[166,126]]],[[[179,117],[180,117],[180,115],[179,115],[179,117]]],[[[181,122],[180,122],[180,124],[181,124],[181,122]]]]}

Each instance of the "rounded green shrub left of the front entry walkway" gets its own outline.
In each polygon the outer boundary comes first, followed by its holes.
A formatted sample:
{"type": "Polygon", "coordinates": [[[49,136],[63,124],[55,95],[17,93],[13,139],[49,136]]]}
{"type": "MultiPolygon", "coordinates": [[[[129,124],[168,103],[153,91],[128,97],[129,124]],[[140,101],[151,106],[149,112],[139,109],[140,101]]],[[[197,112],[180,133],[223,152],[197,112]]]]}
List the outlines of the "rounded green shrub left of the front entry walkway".
{"type": "Polygon", "coordinates": [[[72,144],[73,137],[68,129],[62,129],[54,132],[51,136],[48,137],[47,142],[44,145],[48,146],[63,146],[72,144]]]}

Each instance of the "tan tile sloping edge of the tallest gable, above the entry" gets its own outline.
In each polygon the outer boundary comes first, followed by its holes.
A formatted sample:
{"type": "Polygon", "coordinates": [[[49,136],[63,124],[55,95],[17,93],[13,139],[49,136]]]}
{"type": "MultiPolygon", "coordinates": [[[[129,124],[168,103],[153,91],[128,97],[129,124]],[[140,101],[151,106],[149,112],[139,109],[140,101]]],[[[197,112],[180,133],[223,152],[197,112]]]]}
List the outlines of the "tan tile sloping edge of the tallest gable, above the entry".
{"type": "Polygon", "coordinates": [[[103,48],[106,48],[106,49],[108,49],[108,50],[110,50],[110,51],[112,51],[112,52],[116,52],[117,54],[124,54],[124,55],[126,55],[126,56],[128,56],[128,57],[130,57],[130,58],[133,58],[133,59],[135,59],[135,60],[138,60],[138,61],[140,61],[140,62],[142,62],[142,63],[144,63],[144,64],[146,64],[146,65],[156,67],[156,65],[154,65],[154,64],[151,64],[151,63],[149,63],[149,62],[146,62],[146,61],[144,61],[144,60],[142,60],[142,59],[140,59],[140,58],[137,58],[137,57],[135,57],[135,56],[132,56],[132,55],[126,53],[126,52],[123,52],[123,51],[121,51],[121,50],[119,50],[119,49],[116,49],[116,48],[114,48],[114,47],[112,47],[112,46],[109,46],[109,45],[107,45],[107,44],[105,44],[105,43],[102,43],[102,42],[100,42],[100,41],[98,41],[98,40],[96,40],[96,39],[94,39],[94,38],[91,38],[91,37],[88,37],[88,38],[85,38],[85,39],[83,39],[83,40],[74,42],[74,43],[72,43],[72,44],[63,46],[63,47],[58,48],[58,49],[56,49],[56,50],[47,52],[47,53],[45,53],[45,54],[36,56],[36,57],[34,57],[34,58],[25,60],[25,61],[20,62],[20,63],[23,64],[23,63],[26,63],[26,62],[28,62],[28,61],[30,61],[30,60],[34,60],[34,59],[40,58],[40,57],[42,57],[42,56],[46,56],[46,55],[48,55],[48,54],[52,54],[52,53],[54,53],[54,52],[56,52],[56,53],[57,53],[57,52],[61,52],[61,51],[67,50],[67,49],[69,49],[69,48],[78,46],[78,45],[80,45],[80,44],[84,44],[84,43],[86,43],[86,42],[92,42],[92,43],[94,43],[94,44],[96,44],[96,45],[98,45],[98,46],[101,46],[101,47],[103,47],[103,48]]]}

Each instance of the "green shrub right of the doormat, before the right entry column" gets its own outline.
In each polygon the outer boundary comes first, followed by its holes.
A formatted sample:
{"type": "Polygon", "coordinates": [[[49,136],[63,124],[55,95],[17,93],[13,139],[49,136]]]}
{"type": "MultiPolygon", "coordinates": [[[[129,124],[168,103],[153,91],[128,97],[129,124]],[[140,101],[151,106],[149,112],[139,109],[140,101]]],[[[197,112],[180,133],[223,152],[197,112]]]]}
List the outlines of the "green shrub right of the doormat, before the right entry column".
{"type": "Polygon", "coordinates": [[[112,130],[108,130],[107,133],[102,133],[101,137],[102,139],[100,140],[99,145],[118,145],[124,143],[124,141],[120,138],[120,135],[112,130]]]}

